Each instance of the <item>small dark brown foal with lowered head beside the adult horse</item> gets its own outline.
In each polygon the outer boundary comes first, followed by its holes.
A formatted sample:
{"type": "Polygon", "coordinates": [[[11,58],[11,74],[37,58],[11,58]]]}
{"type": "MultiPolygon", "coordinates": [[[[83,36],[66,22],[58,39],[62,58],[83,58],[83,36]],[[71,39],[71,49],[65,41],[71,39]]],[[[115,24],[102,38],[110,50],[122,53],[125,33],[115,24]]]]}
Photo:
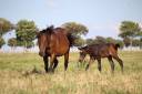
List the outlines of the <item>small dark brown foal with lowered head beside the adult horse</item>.
{"type": "Polygon", "coordinates": [[[114,72],[114,60],[116,60],[121,66],[121,70],[123,72],[123,61],[118,56],[118,48],[120,48],[119,44],[113,44],[113,43],[105,43],[105,44],[92,44],[92,45],[87,45],[83,48],[78,48],[80,50],[80,58],[79,62],[82,62],[85,58],[87,54],[90,56],[90,61],[85,67],[85,70],[89,69],[90,64],[92,63],[93,60],[98,60],[98,69],[101,72],[101,58],[108,58],[112,73],[114,72]]]}

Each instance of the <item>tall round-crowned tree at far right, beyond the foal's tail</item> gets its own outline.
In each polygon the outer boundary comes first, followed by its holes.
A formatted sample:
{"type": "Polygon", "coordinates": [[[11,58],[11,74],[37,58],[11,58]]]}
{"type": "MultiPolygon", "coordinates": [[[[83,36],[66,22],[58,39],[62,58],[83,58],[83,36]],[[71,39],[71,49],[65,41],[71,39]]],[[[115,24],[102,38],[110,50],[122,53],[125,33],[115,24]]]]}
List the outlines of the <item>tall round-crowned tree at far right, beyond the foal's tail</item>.
{"type": "Polygon", "coordinates": [[[141,32],[141,28],[136,22],[123,21],[120,25],[120,31],[119,36],[130,39],[130,44],[132,45],[132,40],[141,32]]]}

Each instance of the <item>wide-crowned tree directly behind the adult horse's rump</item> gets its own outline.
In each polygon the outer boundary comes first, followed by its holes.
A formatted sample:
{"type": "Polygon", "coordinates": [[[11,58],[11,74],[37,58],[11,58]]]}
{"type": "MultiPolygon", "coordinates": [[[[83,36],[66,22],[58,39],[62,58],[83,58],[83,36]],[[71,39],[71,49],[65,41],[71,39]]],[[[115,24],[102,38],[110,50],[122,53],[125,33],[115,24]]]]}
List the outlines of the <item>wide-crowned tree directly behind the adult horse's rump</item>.
{"type": "Polygon", "coordinates": [[[78,45],[78,42],[82,40],[81,35],[85,35],[89,32],[85,25],[75,22],[67,22],[62,24],[62,28],[67,29],[68,33],[71,33],[75,39],[73,45],[78,45]]]}

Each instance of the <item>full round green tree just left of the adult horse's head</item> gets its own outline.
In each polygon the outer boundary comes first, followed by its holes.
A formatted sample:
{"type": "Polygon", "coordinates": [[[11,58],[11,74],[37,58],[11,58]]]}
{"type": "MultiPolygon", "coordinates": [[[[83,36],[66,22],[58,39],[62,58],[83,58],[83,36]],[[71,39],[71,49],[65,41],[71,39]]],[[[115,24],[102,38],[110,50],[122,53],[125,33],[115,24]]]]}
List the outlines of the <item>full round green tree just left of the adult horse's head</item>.
{"type": "Polygon", "coordinates": [[[33,21],[20,20],[17,23],[17,44],[24,48],[31,48],[38,31],[33,21]]]}

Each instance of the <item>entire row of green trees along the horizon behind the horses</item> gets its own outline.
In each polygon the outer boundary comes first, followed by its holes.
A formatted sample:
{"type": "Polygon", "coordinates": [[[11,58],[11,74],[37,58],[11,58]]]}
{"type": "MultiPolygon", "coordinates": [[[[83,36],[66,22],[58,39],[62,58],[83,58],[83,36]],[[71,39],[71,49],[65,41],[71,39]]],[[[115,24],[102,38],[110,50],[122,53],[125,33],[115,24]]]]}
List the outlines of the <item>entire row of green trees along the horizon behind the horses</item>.
{"type": "MultiPolygon", "coordinates": [[[[61,25],[67,29],[69,33],[74,36],[74,46],[81,46],[84,44],[98,44],[98,43],[119,43],[121,48],[123,46],[140,46],[142,48],[142,28],[138,22],[133,21],[122,21],[119,27],[119,36],[122,40],[116,40],[113,38],[95,36],[94,39],[83,39],[82,35],[87,35],[89,29],[81,23],[67,22],[61,25]]],[[[34,21],[20,20],[17,24],[11,23],[4,18],[0,18],[0,49],[6,44],[2,35],[7,32],[14,30],[16,38],[11,38],[8,41],[8,45],[11,48],[24,46],[29,49],[34,45],[37,28],[34,21]]]]}

